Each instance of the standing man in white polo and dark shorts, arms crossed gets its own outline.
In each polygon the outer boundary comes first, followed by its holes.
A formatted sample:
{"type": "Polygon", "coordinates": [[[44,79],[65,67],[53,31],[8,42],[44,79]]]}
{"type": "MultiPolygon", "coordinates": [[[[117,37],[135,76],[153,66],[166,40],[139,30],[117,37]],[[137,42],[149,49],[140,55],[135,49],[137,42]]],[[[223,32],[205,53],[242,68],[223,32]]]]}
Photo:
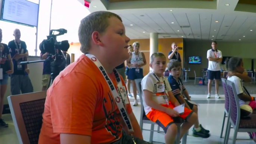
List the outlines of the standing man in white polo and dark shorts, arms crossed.
{"type": "Polygon", "coordinates": [[[208,64],[208,95],[207,98],[211,97],[212,80],[215,79],[215,98],[220,98],[218,94],[219,90],[219,79],[221,79],[221,66],[222,53],[217,50],[217,42],[212,42],[212,49],[207,51],[208,64]]]}

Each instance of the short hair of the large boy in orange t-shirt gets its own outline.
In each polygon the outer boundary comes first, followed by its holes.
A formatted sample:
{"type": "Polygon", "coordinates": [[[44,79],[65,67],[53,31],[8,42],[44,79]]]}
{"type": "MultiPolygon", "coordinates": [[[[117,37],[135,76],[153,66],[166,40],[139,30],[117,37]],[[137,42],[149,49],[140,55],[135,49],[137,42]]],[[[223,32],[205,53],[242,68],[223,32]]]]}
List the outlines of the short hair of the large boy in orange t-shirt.
{"type": "Polygon", "coordinates": [[[80,50],[82,53],[86,53],[90,50],[91,35],[94,31],[98,31],[99,33],[106,31],[109,26],[109,18],[111,17],[116,17],[122,22],[120,16],[106,11],[90,13],[90,15],[81,20],[78,29],[78,38],[81,44],[80,50]]]}

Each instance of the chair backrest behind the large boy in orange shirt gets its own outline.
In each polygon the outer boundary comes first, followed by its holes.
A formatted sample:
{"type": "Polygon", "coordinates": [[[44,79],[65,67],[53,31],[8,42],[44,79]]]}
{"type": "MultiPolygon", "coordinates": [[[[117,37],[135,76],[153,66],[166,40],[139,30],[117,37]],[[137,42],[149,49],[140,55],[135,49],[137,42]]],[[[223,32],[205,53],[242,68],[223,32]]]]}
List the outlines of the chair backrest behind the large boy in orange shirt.
{"type": "Polygon", "coordinates": [[[46,91],[7,97],[20,144],[37,144],[42,126],[46,91]]]}

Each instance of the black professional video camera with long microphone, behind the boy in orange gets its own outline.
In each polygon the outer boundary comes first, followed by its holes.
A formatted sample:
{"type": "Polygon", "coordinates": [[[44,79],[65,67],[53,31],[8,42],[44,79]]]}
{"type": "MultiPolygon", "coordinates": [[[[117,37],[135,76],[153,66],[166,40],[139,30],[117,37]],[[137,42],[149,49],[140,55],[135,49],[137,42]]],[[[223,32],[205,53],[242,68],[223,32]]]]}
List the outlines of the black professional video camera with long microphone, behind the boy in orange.
{"type": "MultiPolygon", "coordinates": [[[[62,51],[68,51],[69,49],[69,43],[68,40],[57,42],[56,37],[59,35],[66,34],[66,29],[52,29],[50,31],[49,36],[47,36],[46,40],[43,40],[42,43],[39,45],[40,51],[43,51],[44,53],[49,53],[47,55],[46,60],[37,60],[32,62],[21,62],[21,64],[28,64],[28,63],[36,63],[36,62],[44,62],[44,61],[50,61],[51,66],[51,78],[50,82],[53,81],[57,75],[59,75],[60,71],[65,69],[66,66],[66,58],[62,51]],[[59,32],[59,34],[53,34],[53,32],[59,32]]],[[[50,86],[50,82],[48,85],[48,88],[50,86]]]]}

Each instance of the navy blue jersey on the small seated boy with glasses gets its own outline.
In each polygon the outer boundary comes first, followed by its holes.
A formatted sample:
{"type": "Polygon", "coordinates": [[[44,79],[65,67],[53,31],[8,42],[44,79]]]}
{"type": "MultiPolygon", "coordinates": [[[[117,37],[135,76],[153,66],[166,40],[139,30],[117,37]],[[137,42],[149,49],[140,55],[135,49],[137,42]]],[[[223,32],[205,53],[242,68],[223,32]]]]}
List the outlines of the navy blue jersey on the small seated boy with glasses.
{"type": "Polygon", "coordinates": [[[180,78],[178,78],[178,82],[172,75],[169,75],[167,79],[169,84],[171,85],[172,94],[174,95],[174,97],[177,98],[179,95],[182,95],[183,91],[186,90],[180,78]]]}

